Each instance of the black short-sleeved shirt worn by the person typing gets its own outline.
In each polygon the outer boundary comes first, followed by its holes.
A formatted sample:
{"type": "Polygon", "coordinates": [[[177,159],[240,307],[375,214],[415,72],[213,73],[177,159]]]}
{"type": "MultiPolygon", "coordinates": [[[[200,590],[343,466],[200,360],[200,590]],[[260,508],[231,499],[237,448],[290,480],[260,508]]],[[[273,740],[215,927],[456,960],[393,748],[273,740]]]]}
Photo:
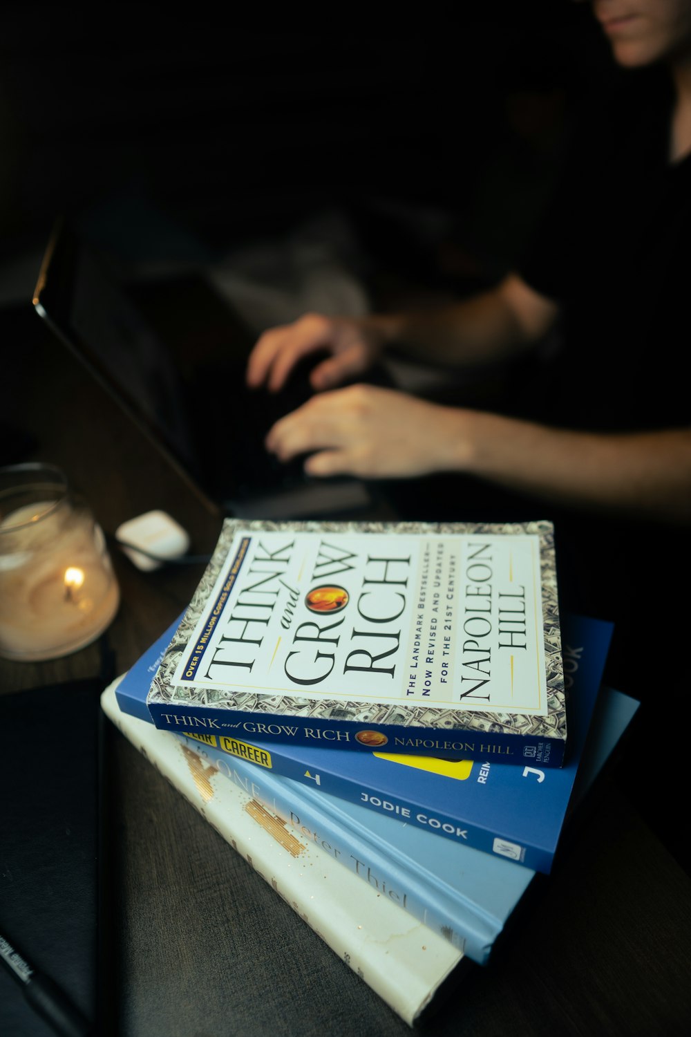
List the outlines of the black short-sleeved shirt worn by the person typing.
{"type": "Polygon", "coordinates": [[[668,161],[671,104],[662,69],[634,74],[574,135],[521,267],[563,315],[562,345],[530,417],[593,431],[691,424],[683,376],[691,156],[668,161]]]}

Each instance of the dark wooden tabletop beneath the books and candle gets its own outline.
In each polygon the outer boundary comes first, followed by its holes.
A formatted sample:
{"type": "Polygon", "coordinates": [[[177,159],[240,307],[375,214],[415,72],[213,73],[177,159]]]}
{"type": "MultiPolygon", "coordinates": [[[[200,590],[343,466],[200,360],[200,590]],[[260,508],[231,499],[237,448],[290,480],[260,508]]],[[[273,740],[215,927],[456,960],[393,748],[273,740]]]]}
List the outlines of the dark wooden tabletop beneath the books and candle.
{"type": "MultiPolygon", "coordinates": [[[[188,529],[194,552],[209,552],[220,515],[162,464],[30,308],[0,313],[0,328],[9,372],[2,421],[23,433],[8,432],[5,463],[62,467],[107,531],[163,508],[188,529]]],[[[143,573],[121,555],[114,563],[122,602],[107,637],[55,662],[0,661],[2,693],[88,677],[99,686],[172,622],[201,574],[194,565],[143,573]]],[[[409,1032],[109,724],[103,763],[99,1032],[409,1032]],[[237,904],[256,919],[252,933],[234,921],[237,904]]],[[[424,1032],[688,1032],[689,877],[627,794],[621,766],[598,786],[502,954],[487,969],[471,966],[424,1032]]],[[[2,1006],[20,994],[4,974],[0,982],[2,1006]]],[[[40,1020],[17,1032],[50,1033],[40,1020]]]]}

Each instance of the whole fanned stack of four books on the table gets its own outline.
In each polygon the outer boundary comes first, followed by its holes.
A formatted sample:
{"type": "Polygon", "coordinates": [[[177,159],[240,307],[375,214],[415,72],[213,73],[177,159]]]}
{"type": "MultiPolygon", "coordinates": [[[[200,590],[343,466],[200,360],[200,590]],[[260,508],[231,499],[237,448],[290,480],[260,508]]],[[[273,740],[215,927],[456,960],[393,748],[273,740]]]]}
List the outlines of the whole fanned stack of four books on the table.
{"type": "Polygon", "coordinates": [[[106,690],[123,734],[407,1022],[485,964],[637,703],[549,523],[227,521],[106,690]]]}

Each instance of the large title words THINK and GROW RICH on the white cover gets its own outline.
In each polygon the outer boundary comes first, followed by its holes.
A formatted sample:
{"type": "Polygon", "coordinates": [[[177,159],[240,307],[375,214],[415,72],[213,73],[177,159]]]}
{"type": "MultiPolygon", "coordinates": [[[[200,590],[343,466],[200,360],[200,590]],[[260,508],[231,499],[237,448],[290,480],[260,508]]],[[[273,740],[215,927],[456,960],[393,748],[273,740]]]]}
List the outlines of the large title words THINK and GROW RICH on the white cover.
{"type": "Polygon", "coordinates": [[[351,608],[341,615],[321,615],[309,612],[303,590],[287,582],[293,548],[294,540],[289,540],[269,551],[260,541],[203,677],[225,682],[231,674],[251,673],[276,616],[284,629],[294,630],[284,663],[291,683],[321,683],[336,667],[339,649],[344,674],[362,672],[392,679],[401,647],[400,618],[406,608],[410,555],[368,555],[364,561],[337,543],[322,540],[306,590],[324,581],[346,580],[348,574],[352,579],[357,568],[363,578],[351,608]]]}

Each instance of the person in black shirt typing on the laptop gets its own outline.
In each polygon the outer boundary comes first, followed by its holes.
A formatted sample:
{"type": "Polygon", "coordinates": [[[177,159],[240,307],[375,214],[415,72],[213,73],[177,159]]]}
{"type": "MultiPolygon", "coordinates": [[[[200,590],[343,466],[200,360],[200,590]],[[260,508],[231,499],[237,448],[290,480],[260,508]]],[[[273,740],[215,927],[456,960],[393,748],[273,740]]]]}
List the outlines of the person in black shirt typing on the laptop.
{"type": "Polygon", "coordinates": [[[579,509],[691,518],[680,337],[691,283],[691,3],[594,7],[621,65],[654,66],[645,104],[634,89],[633,104],[588,128],[588,149],[567,171],[524,268],[491,290],[438,311],[307,314],[266,331],[250,357],[251,386],[277,391],[300,359],[329,353],[312,372],[315,395],[268,432],[280,459],[307,453],[317,477],[458,472],[579,509]],[[527,353],[557,323],[563,347],[530,413],[339,388],[392,344],[470,367],[527,353]]]}

